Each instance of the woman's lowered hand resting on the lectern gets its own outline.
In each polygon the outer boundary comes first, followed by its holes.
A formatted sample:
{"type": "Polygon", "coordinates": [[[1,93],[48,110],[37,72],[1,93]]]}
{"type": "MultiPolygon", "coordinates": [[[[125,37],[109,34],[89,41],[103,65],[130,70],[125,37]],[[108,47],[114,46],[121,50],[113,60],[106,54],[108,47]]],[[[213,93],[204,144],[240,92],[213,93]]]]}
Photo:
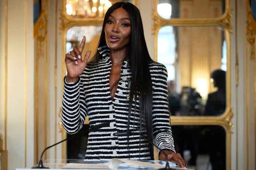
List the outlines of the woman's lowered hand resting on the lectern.
{"type": "MultiPolygon", "coordinates": [[[[184,159],[181,157],[180,153],[170,152],[168,150],[164,150],[164,152],[167,155],[168,161],[171,161],[171,162],[173,162],[177,165],[180,165],[181,167],[186,169],[187,164],[184,161],[184,159]]],[[[166,157],[165,157],[164,153],[162,153],[162,152],[160,153],[159,159],[166,161],[166,157]]]]}

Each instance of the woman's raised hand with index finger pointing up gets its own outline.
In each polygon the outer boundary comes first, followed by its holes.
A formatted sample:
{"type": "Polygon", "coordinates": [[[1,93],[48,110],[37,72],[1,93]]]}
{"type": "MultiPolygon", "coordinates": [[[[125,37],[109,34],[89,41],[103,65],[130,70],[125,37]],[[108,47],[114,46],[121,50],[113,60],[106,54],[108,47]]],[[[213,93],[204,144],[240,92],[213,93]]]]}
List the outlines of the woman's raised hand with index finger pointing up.
{"type": "Polygon", "coordinates": [[[83,73],[87,61],[90,57],[91,51],[87,51],[84,56],[84,60],[82,60],[81,54],[84,50],[84,44],[85,44],[85,36],[83,37],[83,40],[79,46],[79,49],[77,47],[74,47],[72,51],[70,51],[70,54],[67,53],[65,55],[65,63],[67,66],[67,76],[66,76],[66,82],[76,82],[79,78],[79,76],[83,73]]]}

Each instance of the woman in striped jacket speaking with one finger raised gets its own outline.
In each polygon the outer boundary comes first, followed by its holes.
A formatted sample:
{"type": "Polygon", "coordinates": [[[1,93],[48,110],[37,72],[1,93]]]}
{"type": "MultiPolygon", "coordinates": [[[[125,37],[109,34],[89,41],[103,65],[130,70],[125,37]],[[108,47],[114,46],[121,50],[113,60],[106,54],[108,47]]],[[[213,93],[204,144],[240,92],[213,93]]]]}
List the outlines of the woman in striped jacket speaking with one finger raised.
{"type": "Polygon", "coordinates": [[[138,8],[118,2],[108,9],[92,62],[87,63],[91,51],[81,59],[84,44],[85,37],[65,57],[63,126],[72,134],[82,128],[86,116],[90,125],[111,121],[110,127],[89,132],[85,159],[153,159],[153,147],[140,136],[113,136],[131,130],[147,136],[170,161],[185,167],[174,150],[166,68],[148,54],[138,8]]]}

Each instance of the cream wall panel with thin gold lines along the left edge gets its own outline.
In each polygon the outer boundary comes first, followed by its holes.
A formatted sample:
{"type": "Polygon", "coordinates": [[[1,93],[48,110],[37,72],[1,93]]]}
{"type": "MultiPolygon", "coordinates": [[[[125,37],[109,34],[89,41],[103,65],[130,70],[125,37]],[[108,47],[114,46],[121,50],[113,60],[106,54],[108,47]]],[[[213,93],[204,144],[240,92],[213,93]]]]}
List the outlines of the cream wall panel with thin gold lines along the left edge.
{"type": "Polygon", "coordinates": [[[15,169],[34,164],[34,40],[31,15],[33,0],[8,0],[7,39],[4,38],[4,4],[5,1],[1,1],[0,132],[4,135],[3,115],[6,100],[5,142],[8,150],[8,169],[15,169]],[[6,42],[7,51],[4,50],[6,42]],[[7,54],[7,96],[4,96],[4,53],[7,54]]]}

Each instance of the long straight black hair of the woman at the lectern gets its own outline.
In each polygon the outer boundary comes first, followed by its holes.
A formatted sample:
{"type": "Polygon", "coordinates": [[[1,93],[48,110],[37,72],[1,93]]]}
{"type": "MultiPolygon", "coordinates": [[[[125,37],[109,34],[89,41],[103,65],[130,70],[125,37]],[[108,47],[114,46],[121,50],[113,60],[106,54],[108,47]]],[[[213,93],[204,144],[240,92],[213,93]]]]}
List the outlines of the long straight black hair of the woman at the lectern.
{"type": "MultiPolygon", "coordinates": [[[[152,61],[152,59],[149,56],[145,41],[140,11],[135,5],[128,2],[117,2],[108,9],[103,21],[98,48],[107,45],[104,28],[110,14],[117,8],[123,8],[125,11],[127,11],[131,20],[130,43],[126,47],[126,58],[128,59],[128,63],[132,70],[127,129],[129,130],[130,125],[132,100],[133,98],[135,99],[134,112],[136,112],[136,109],[138,109],[136,107],[136,101],[139,99],[140,132],[144,131],[144,135],[147,135],[148,139],[153,142],[152,81],[148,68],[148,62],[152,61]]],[[[93,57],[93,61],[99,61],[101,58],[102,56],[100,53],[96,52],[93,57]]],[[[151,159],[153,159],[154,152],[151,144],[148,144],[148,148],[151,159]]]]}

